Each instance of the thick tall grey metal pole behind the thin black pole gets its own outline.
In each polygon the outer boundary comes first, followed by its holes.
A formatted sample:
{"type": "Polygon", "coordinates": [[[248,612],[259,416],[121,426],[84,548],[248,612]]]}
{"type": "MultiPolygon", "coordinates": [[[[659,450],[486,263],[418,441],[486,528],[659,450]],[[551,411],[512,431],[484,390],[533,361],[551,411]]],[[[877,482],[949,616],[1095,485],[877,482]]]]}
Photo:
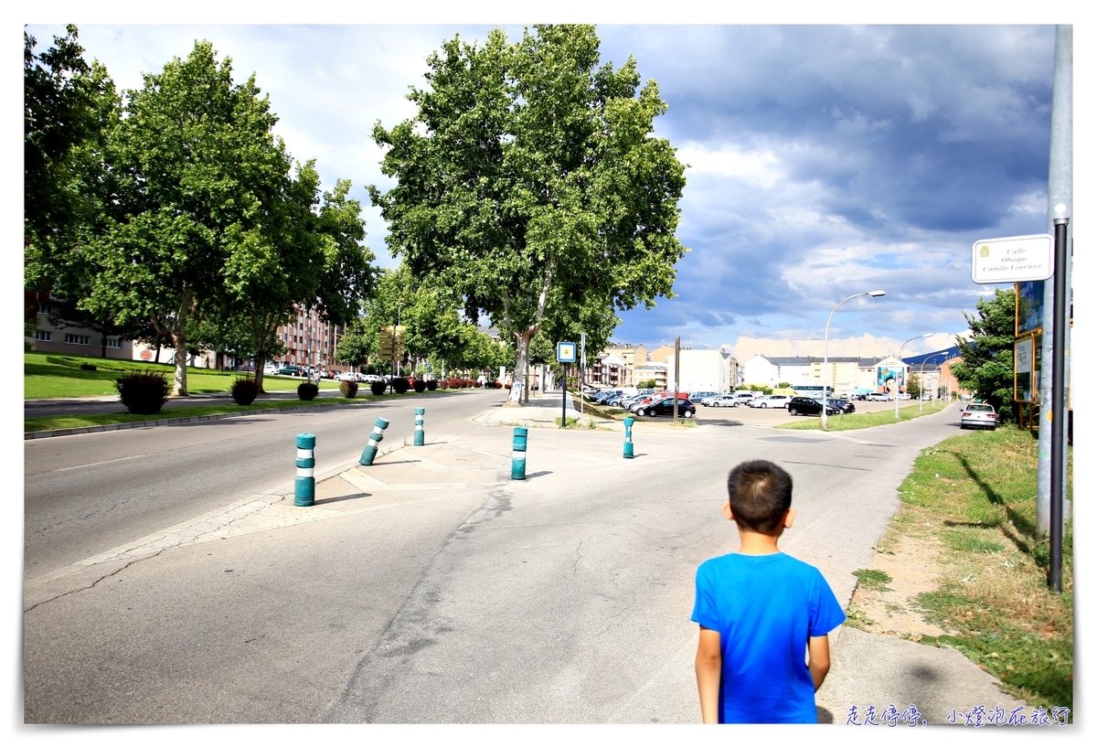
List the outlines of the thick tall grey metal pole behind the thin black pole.
{"type": "MultiPolygon", "coordinates": [[[[1052,362],[1056,355],[1063,355],[1062,386],[1066,386],[1070,381],[1070,313],[1064,315],[1063,322],[1055,319],[1055,311],[1060,302],[1068,308],[1071,293],[1071,245],[1073,242],[1070,218],[1074,213],[1074,27],[1070,24],[1055,26],[1055,73],[1051,94],[1051,152],[1048,166],[1048,234],[1055,237],[1055,262],[1060,261],[1059,239],[1063,234],[1065,251],[1063,253],[1063,264],[1055,265],[1054,279],[1043,282],[1043,337],[1040,343],[1040,439],[1039,454],[1037,461],[1037,499],[1036,499],[1036,521],[1039,533],[1049,532],[1052,524],[1052,514],[1062,512],[1062,515],[1070,515],[1070,503],[1058,508],[1052,508],[1053,494],[1058,494],[1065,500],[1066,491],[1063,486],[1052,485],[1053,477],[1066,475],[1066,450],[1061,450],[1059,456],[1054,456],[1053,434],[1058,435],[1063,443],[1066,441],[1066,428],[1070,415],[1064,407],[1062,412],[1055,411],[1053,407],[1054,385],[1052,362]],[[1063,224],[1059,224],[1064,220],[1063,224]],[[1062,284],[1059,283],[1062,279],[1062,284]],[[1053,282],[1054,281],[1054,282],[1053,282]],[[1066,298],[1055,297],[1055,287],[1062,286],[1066,298]],[[1059,330],[1058,325],[1062,324],[1063,329],[1059,330]],[[1062,332],[1062,335],[1060,335],[1062,332]],[[1061,350],[1054,350],[1054,343],[1062,341],[1061,350]],[[1053,466],[1053,458],[1062,464],[1053,466]]],[[[1064,400],[1065,405],[1070,400],[1064,400]]],[[[1061,519],[1059,520],[1062,521],[1061,519]]],[[[1062,528],[1060,528],[1060,532],[1062,528]]]]}

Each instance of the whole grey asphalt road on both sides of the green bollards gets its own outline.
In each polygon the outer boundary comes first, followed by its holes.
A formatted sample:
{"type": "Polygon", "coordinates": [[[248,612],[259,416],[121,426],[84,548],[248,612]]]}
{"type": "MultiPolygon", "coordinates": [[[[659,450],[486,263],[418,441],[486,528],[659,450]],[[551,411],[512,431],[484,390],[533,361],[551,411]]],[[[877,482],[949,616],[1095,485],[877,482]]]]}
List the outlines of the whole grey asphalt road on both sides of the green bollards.
{"type": "Polygon", "coordinates": [[[692,581],[737,547],[727,471],[766,457],[792,473],[782,548],[845,603],[918,451],[961,433],[954,408],[829,434],[711,423],[641,434],[623,461],[619,433],[531,430],[519,483],[510,430],[467,420],[493,398],[429,401],[428,441],[446,443],[323,483],[308,521],[272,505],[297,519],[83,571],[66,565],[284,485],[296,431],[317,433],[321,463],[355,456],[376,410],[29,443],[26,721],[697,722],[692,581]],[[124,458],[138,447],[152,481],[124,458]],[[118,462],[87,464],[104,452],[118,462]],[[82,488],[61,477],[84,472],[82,488]]]}

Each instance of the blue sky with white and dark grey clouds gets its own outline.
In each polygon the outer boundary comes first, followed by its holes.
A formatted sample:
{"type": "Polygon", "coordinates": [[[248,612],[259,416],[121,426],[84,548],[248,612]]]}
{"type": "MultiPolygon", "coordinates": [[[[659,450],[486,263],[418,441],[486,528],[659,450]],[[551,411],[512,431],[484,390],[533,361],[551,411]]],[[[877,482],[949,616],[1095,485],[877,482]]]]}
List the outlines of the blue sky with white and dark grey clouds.
{"type": "MultiPolygon", "coordinates": [[[[513,13],[510,13],[513,15],[513,13]]],[[[499,16],[502,18],[502,16],[499,16]]],[[[509,16],[504,20],[511,20],[509,16]]],[[[297,159],[326,185],[349,178],[367,242],[393,264],[366,184],[389,180],[370,138],[412,114],[425,58],[475,25],[109,25],[79,23],[120,88],[210,39],[237,80],[256,73],[297,159]]],[[[505,25],[511,38],[521,25],[505,25]]],[[[59,25],[32,24],[39,47],[59,25]]],[[[599,24],[602,61],[636,58],[668,112],[656,132],[689,165],[674,299],[622,315],[615,339],[757,352],[904,355],[945,348],[980,294],[980,238],[1047,222],[1051,25],[599,24]]]]}

